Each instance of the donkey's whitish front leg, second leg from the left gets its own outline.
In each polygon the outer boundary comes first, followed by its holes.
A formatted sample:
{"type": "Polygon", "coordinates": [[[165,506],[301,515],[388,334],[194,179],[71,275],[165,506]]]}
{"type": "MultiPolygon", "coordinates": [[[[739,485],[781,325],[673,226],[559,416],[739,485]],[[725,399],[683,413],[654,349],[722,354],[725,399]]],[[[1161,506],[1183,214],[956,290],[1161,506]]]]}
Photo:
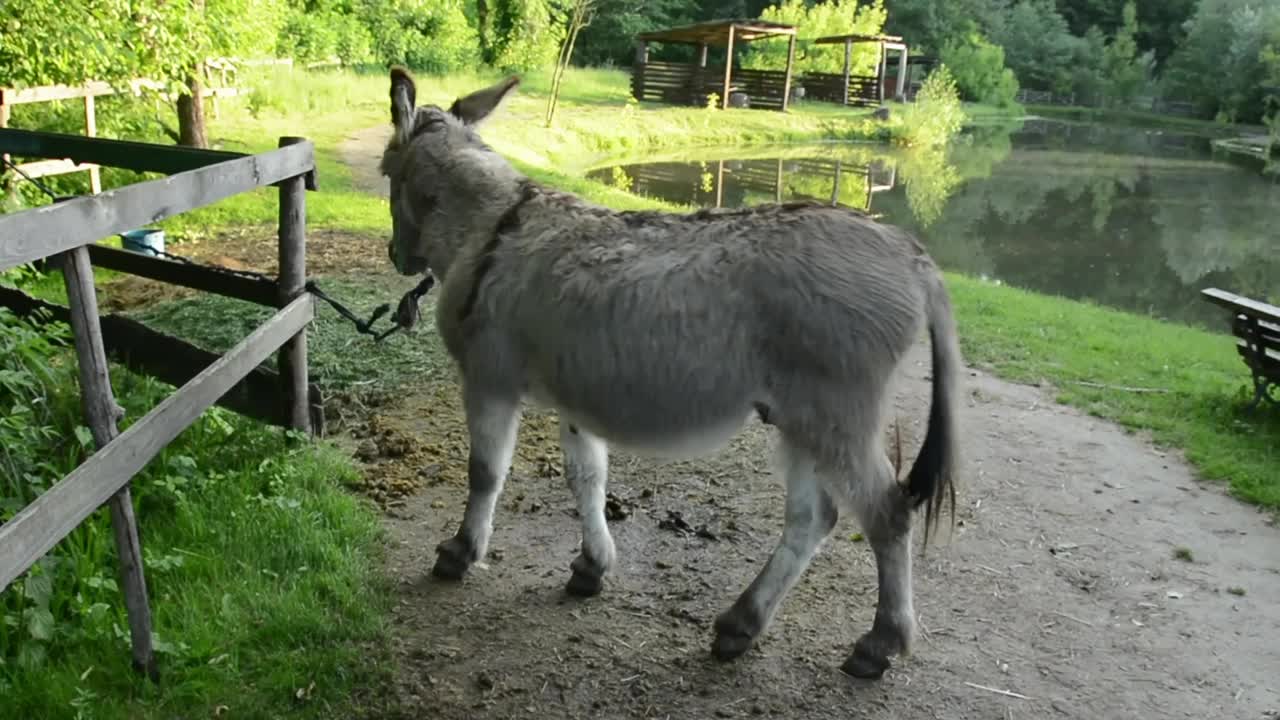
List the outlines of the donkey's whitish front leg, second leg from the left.
{"type": "Polygon", "coordinates": [[[570,594],[590,597],[600,592],[604,573],[616,557],[613,538],[604,520],[609,448],[600,438],[561,419],[561,451],[564,454],[564,478],[582,518],[582,551],[570,564],[573,575],[564,589],[570,594]]]}

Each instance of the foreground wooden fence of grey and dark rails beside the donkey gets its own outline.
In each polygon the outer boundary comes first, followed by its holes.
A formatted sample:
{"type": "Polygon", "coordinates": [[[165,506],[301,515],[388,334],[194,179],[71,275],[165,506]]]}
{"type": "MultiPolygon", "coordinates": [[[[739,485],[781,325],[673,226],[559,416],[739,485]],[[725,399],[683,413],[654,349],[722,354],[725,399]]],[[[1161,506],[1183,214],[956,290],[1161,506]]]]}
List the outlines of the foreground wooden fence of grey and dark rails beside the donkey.
{"type": "MultiPolygon", "coordinates": [[[[104,502],[109,502],[120,557],[120,587],[129,618],[133,665],[155,678],[151,610],[129,480],[238,384],[251,380],[259,388],[264,387],[270,378],[252,378],[256,368],[271,354],[278,354],[279,365],[279,375],[275,377],[279,391],[274,396],[283,401],[276,420],[302,432],[312,430],[306,328],[312,319],[314,305],[312,296],[305,292],[305,229],[306,190],[315,190],[315,149],[303,138],[285,137],[280,138],[278,150],[244,155],[0,129],[0,151],[172,173],[119,190],[0,215],[0,270],[44,258],[54,258],[61,265],[68,305],[51,307],[72,327],[81,405],[97,447],[76,470],[0,525],[0,591],[104,502]],[[274,282],[234,282],[228,275],[200,266],[178,269],[178,263],[95,245],[104,237],[265,186],[279,188],[279,273],[274,282]],[[136,336],[122,336],[118,323],[99,318],[92,273],[95,260],[128,273],[270,304],[278,311],[225,354],[216,356],[198,351],[195,359],[206,360],[207,366],[198,370],[191,368],[192,357],[188,356],[168,370],[164,379],[180,387],[120,433],[116,428],[120,410],[111,393],[106,348],[136,336]]],[[[13,292],[17,291],[9,291],[0,297],[0,302],[18,313],[23,313],[24,302],[50,307],[26,296],[22,296],[26,300],[14,297],[13,292]]],[[[138,332],[137,328],[132,331],[138,332]]],[[[143,331],[152,334],[143,332],[138,337],[160,345],[155,348],[156,355],[178,357],[189,347],[177,338],[143,331]]]]}

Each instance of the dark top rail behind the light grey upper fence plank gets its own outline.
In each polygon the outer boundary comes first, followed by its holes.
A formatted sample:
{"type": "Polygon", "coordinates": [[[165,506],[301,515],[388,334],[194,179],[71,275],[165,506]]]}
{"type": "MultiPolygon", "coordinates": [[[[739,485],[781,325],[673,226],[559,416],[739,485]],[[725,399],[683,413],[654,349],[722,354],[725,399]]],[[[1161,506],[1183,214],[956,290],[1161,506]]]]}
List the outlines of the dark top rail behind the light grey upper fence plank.
{"type": "Polygon", "coordinates": [[[247,158],[243,152],[225,150],[202,150],[156,145],[151,142],[132,142],[128,140],[106,140],[58,132],[37,132],[28,129],[0,129],[0,152],[22,158],[67,159],[76,163],[93,163],[106,168],[124,168],[146,173],[180,173],[204,168],[225,160],[247,158]]]}

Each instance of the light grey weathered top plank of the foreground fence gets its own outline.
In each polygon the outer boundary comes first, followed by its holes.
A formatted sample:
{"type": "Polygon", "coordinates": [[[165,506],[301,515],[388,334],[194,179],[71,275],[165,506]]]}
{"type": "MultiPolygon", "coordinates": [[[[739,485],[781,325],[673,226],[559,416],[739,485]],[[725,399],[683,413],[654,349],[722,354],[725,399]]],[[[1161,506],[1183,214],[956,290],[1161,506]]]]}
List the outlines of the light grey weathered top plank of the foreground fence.
{"type": "Polygon", "coordinates": [[[312,169],[314,147],[310,142],[300,142],[101,195],[0,215],[0,270],[145,227],[312,169]]]}

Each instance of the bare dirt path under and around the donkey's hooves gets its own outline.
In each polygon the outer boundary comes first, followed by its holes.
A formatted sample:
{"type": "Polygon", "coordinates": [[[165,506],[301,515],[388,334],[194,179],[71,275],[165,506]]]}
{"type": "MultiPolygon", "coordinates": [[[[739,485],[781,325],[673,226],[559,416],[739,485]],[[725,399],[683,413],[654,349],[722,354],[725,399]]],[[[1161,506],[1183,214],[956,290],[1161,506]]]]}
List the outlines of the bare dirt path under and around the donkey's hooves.
{"type": "MultiPolygon", "coordinates": [[[[347,158],[376,161],[381,137],[355,136],[347,158]]],[[[896,405],[914,456],[923,346],[911,360],[896,405]]],[[[398,670],[383,716],[1280,716],[1280,529],[1039,388],[965,379],[959,524],[918,559],[922,638],[878,683],[837,670],[874,612],[874,565],[850,521],[755,650],[709,657],[712,620],[781,530],[763,427],[694,462],[613,456],[620,565],[576,601],[562,587],[579,521],[541,414],[526,415],[488,568],[430,578],[461,516],[466,445],[452,388],[406,397],[380,423],[433,455],[375,460],[422,482],[388,511],[398,670]],[[672,511],[712,537],[663,529],[672,511]]]]}

